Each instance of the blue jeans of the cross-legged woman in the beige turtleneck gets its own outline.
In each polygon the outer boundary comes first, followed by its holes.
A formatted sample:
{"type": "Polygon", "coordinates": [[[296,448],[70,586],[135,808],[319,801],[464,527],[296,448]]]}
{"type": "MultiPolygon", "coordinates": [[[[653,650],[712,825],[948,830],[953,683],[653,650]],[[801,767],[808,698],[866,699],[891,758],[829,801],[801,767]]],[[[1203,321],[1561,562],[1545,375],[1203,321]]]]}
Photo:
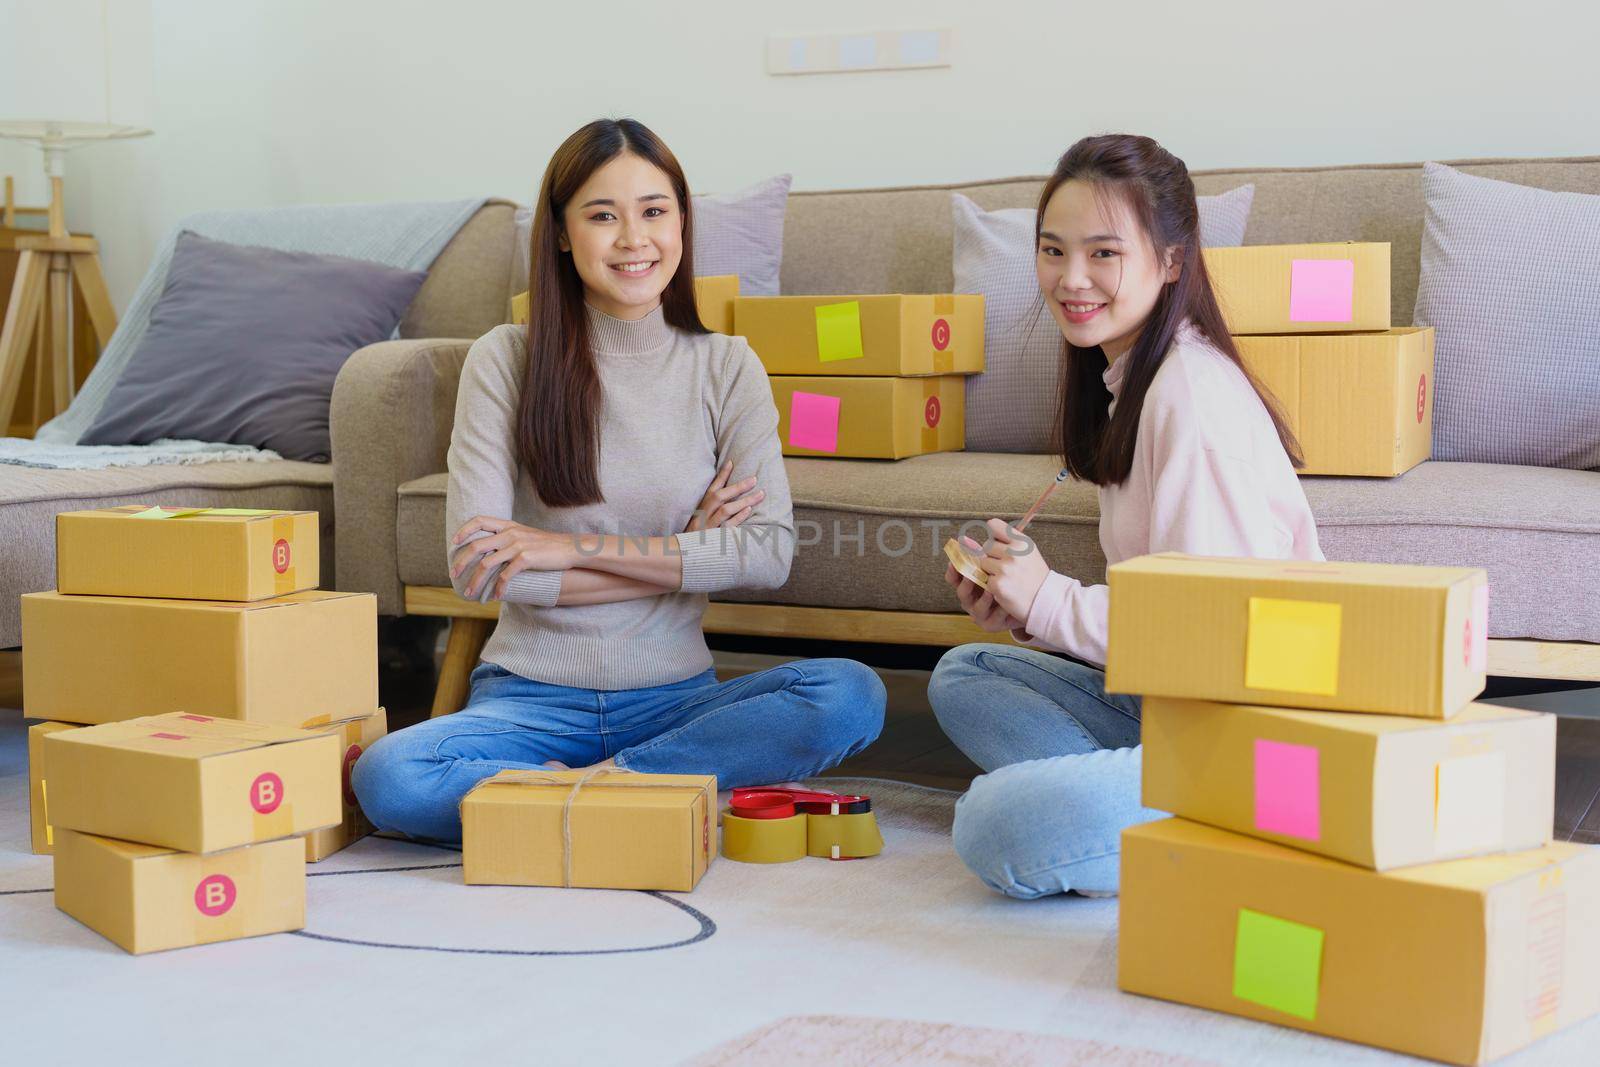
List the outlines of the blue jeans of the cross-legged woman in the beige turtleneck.
{"type": "Polygon", "coordinates": [[[576,689],[494,664],[472,672],[454,715],[379,739],[350,785],[381,830],[461,840],[461,798],[506,768],[602,760],[662,774],[715,774],[722,789],[810,777],[883,728],[883,681],[851,659],[802,659],[717,681],[706,670],[646,689],[576,689]]]}

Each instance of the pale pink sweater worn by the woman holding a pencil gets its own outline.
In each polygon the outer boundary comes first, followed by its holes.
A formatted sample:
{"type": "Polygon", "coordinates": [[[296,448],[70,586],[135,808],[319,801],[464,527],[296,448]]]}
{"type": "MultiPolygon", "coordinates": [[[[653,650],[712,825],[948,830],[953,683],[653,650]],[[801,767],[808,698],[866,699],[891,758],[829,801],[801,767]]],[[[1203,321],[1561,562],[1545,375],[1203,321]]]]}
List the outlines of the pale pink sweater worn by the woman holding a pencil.
{"type": "MultiPolygon", "coordinates": [[[[1126,357],[1106,368],[1117,408],[1126,357]]],[[[1272,418],[1245,374],[1192,328],[1155,373],[1122,485],[1101,486],[1107,566],[1149,552],[1322,560],[1306,504],[1272,418]]],[[[1110,589],[1051,571],[1013,637],[1086,662],[1106,662],[1110,589]]]]}

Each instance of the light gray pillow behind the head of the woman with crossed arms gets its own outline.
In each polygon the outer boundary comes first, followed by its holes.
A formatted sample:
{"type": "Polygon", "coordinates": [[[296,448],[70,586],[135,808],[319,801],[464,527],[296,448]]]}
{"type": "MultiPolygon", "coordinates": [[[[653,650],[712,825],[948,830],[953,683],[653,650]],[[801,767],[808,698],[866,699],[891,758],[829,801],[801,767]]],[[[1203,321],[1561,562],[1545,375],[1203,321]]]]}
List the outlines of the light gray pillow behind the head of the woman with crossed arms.
{"type": "MultiPolygon", "coordinates": [[[[739,192],[691,197],[694,205],[694,274],[739,275],[741,296],[778,296],[784,261],[784,211],[789,174],[778,174],[739,192]]],[[[528,288],[533,245],[533,208],[517,208],[517,259],[512,293],[528,288]]]]}

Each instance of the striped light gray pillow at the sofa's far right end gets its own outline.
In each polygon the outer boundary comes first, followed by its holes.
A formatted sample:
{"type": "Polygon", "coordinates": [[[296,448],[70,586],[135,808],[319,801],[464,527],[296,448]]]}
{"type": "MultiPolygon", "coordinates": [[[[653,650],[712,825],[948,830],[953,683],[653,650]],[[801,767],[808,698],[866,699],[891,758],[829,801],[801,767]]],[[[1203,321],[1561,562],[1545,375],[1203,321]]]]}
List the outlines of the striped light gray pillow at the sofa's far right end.
{"type": "Polygon", "coordinates": [[[1600,197],[1422,168],[1434,459],[1600,467],[1600,197]]]}

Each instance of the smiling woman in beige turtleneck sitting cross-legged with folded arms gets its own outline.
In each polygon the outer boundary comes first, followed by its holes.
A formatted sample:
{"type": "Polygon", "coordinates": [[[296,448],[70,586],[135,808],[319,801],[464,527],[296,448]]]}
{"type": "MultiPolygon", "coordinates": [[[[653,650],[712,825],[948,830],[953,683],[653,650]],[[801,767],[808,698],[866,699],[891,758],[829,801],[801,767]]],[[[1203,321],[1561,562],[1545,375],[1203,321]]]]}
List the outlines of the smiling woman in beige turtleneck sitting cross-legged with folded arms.
{"type": "Polygon", "coordinates": [[[546,170],[528,328],[472,346],[450,442],[456,592],[502,601],[454,715],[374,744],[371,821],[459,840],[506,768],[806,777],[870,744],[883,685],[845,659],[717,681],[706,593],[776,589],[794,515],[778,411],[742,338],[694,309],[683,171],[637,122],[594,122],[546,170]]]}

